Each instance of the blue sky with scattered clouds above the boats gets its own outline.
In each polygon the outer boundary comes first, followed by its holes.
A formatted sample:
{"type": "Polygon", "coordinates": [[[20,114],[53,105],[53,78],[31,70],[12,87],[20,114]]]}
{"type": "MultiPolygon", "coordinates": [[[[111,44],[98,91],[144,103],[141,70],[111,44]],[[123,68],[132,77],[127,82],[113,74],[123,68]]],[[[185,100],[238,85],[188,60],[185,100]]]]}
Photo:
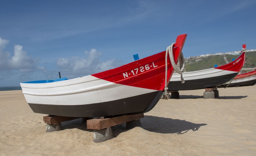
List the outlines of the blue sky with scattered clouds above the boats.
{"type": "Polygon", "coordinates": [[[164,51],[256,49],[255,0],[0,0],[0,86],[90,75],[164,51]]]}

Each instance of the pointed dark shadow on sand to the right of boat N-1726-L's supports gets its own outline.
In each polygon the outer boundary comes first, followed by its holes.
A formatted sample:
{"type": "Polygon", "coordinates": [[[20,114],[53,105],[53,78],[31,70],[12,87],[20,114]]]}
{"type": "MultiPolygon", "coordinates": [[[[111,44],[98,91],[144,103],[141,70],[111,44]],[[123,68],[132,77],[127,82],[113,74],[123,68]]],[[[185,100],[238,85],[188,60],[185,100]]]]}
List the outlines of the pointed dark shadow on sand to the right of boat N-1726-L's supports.
{"type": "Polygon", "coordinates": [[[165,117],[144,116],[141,119],[142,127],[145,130],[156,133],[184,134],[189,130],[196,131],[205,123],[192,123],[186,120],[172,119],[165,117]]]}

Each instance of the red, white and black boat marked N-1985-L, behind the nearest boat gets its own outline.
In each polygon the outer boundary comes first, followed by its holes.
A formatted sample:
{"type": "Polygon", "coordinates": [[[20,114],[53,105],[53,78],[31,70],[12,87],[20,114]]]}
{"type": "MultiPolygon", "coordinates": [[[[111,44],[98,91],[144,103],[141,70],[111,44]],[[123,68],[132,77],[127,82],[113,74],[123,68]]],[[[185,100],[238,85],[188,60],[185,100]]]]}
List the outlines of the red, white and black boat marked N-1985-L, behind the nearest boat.
{"type": "Polygon", "coordinates": [[[174,73],[168,84],[169,91],[195,90],[213,88],[225,84],[232,80],[245,62],[245,52],[234,61],[215,68],[185,72],[183,78],[185,83],[181,83],[180,74],[174,73]]]}

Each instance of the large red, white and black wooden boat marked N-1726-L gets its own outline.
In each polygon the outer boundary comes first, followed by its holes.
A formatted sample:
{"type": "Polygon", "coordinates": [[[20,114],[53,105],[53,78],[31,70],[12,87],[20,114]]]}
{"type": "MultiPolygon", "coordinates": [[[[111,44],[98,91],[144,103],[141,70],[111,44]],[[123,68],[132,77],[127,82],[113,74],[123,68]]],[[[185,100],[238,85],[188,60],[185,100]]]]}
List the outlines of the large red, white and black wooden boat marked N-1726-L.
{"type": "MultiPolygon", "coordinates": [[[[173,46],[177,64],[187,35],[173,46]]],[[[166,51],[97,74],[74,79],[21,83],[23,94],[35,113],[65,117],[107,117],[148,112],[165,88],[166,51]]],[[[167,61],[167,80],[173,67],[167,61]]]]}

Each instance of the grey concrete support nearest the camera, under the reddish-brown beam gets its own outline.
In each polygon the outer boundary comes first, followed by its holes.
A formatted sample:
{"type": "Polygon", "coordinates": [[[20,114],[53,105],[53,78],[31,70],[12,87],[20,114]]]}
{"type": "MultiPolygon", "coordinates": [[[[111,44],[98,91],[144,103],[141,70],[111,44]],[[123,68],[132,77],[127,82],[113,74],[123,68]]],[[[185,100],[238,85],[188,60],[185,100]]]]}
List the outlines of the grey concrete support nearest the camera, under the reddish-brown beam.
{"type": "Polygon", "coordinates": [[[113,138],[111,127],[96,130],[93,129],[93,142],[103,142],[113,138]]]}

